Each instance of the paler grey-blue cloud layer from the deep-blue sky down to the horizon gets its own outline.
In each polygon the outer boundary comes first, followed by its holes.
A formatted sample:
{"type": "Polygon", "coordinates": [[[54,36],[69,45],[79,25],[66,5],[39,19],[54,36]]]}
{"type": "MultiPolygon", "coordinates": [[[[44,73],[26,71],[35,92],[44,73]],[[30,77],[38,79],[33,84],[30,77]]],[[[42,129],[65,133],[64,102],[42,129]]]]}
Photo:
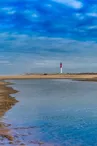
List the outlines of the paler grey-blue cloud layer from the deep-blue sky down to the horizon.
{"type": "Polygon", "coordinates": [[[97,71],[97,44],[65,38],[0,35],[0,74],[97,71]],[[7,70],[7,72],[5,71],[7,70]]]}

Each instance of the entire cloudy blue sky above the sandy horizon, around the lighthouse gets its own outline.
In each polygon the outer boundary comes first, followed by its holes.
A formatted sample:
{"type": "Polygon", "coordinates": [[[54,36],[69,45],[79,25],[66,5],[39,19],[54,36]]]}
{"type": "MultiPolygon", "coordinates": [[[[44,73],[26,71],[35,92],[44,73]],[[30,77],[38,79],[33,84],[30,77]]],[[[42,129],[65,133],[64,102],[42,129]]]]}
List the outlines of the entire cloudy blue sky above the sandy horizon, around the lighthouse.
{"type": "Polygon", "coordinates": [[[0,0],[0,75],[97,72],[97,0],[0,0]]]}

